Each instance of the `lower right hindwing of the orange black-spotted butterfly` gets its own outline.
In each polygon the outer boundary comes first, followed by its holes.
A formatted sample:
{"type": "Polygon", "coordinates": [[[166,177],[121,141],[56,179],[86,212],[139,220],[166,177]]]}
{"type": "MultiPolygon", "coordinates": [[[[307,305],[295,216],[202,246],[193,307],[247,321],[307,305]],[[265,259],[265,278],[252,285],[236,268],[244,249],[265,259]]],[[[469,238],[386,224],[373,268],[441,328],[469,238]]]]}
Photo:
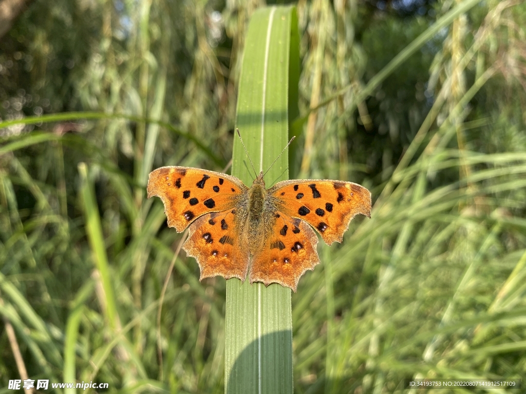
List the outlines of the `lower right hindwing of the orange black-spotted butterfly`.
{"type": "Polygon", "coordinates": [[[252,257],[250,283],[263,282],[266,286],[279,283],[296,291],[301,275],[314,269],[320,262],[316,245],[318,237],[305,222],[282,212],[269,212],[267,221],[276,218],[264,235],[266,242],[252,257]]]}

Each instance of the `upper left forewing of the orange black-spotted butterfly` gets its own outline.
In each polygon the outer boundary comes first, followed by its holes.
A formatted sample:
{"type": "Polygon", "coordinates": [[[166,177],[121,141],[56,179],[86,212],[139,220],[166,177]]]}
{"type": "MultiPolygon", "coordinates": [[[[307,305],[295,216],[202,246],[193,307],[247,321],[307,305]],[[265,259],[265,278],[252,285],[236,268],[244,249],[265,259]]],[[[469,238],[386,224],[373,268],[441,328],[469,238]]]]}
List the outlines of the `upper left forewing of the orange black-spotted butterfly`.
{"type": "Polygon", "coordinates": [[[182,232],[206,213],[231,210],[248,188],[231,175],[174,166],[150,172],[147,191],[163,201],[168,226],[182,232]]]}

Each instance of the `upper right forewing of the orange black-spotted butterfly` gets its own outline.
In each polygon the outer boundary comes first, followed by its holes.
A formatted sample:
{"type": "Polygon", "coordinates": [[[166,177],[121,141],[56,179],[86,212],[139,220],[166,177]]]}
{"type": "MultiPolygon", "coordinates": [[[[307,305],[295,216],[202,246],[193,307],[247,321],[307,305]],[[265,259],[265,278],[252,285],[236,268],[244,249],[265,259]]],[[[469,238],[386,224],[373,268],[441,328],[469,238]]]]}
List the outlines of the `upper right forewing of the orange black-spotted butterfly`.
{"type": "Polygon", "coordinates": [[[341,242],[351,219],[371,217],[371,193],[352,182],[329,180],[288,180],[268,190],[278,210],[305,220],[328,245],[341,242]]]}

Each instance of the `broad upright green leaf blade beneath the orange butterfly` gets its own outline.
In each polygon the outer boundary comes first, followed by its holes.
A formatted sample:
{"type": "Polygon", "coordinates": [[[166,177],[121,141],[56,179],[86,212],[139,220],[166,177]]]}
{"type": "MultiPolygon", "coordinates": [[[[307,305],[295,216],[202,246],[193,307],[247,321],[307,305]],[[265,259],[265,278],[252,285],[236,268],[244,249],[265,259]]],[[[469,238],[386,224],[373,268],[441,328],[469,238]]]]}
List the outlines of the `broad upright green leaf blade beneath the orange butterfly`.
{"type": "MultiPolygon", "coordinates": [[[[293,7],[263,8],[252,15],[246,38],[236,126],[255,171],[268,169],[267,187],[287,179],[287,155],[278,156],[288,142],[289,90],[296,91],[297,96],[297,84],[289,85],[290,70],[299,70],[298,41],[291,40],[294,29],[293,7]],[[291,42],[296,44],[294,48],[291,42]],[[292,67],[290,59],[296,59],[292,67]]],[[[246,184],[255,177],[237,137],[232,174],[246,184]]],[[[250,285],[248,280],[242,284],[237,279],[227,282],[227,393],[292,393],[290,292],[278,284],[265,287],[261,283],[250,285]]]]}

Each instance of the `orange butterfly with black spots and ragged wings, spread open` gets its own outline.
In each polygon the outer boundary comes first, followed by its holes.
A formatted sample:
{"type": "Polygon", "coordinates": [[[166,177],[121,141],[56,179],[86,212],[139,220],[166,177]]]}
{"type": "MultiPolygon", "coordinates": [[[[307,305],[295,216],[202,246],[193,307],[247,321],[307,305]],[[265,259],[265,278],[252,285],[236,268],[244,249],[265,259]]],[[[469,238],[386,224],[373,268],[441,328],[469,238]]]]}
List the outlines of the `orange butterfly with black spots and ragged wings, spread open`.
{"type": "Polygon", "coordinates": [[[265,188],[261,172],[250,188],[220,172],[161,167],[148,178],[148,198],[163,201],[168,226],[189,236],[183,245],[199,280],[220,275],[296,292],[301,275],[320,262],[316,245],[341,242],[351,219],[370,216],[371,193],[359,184],[288,180],[265,188]],[[313,229],[312,229],[312,227],[313,229]]]}

